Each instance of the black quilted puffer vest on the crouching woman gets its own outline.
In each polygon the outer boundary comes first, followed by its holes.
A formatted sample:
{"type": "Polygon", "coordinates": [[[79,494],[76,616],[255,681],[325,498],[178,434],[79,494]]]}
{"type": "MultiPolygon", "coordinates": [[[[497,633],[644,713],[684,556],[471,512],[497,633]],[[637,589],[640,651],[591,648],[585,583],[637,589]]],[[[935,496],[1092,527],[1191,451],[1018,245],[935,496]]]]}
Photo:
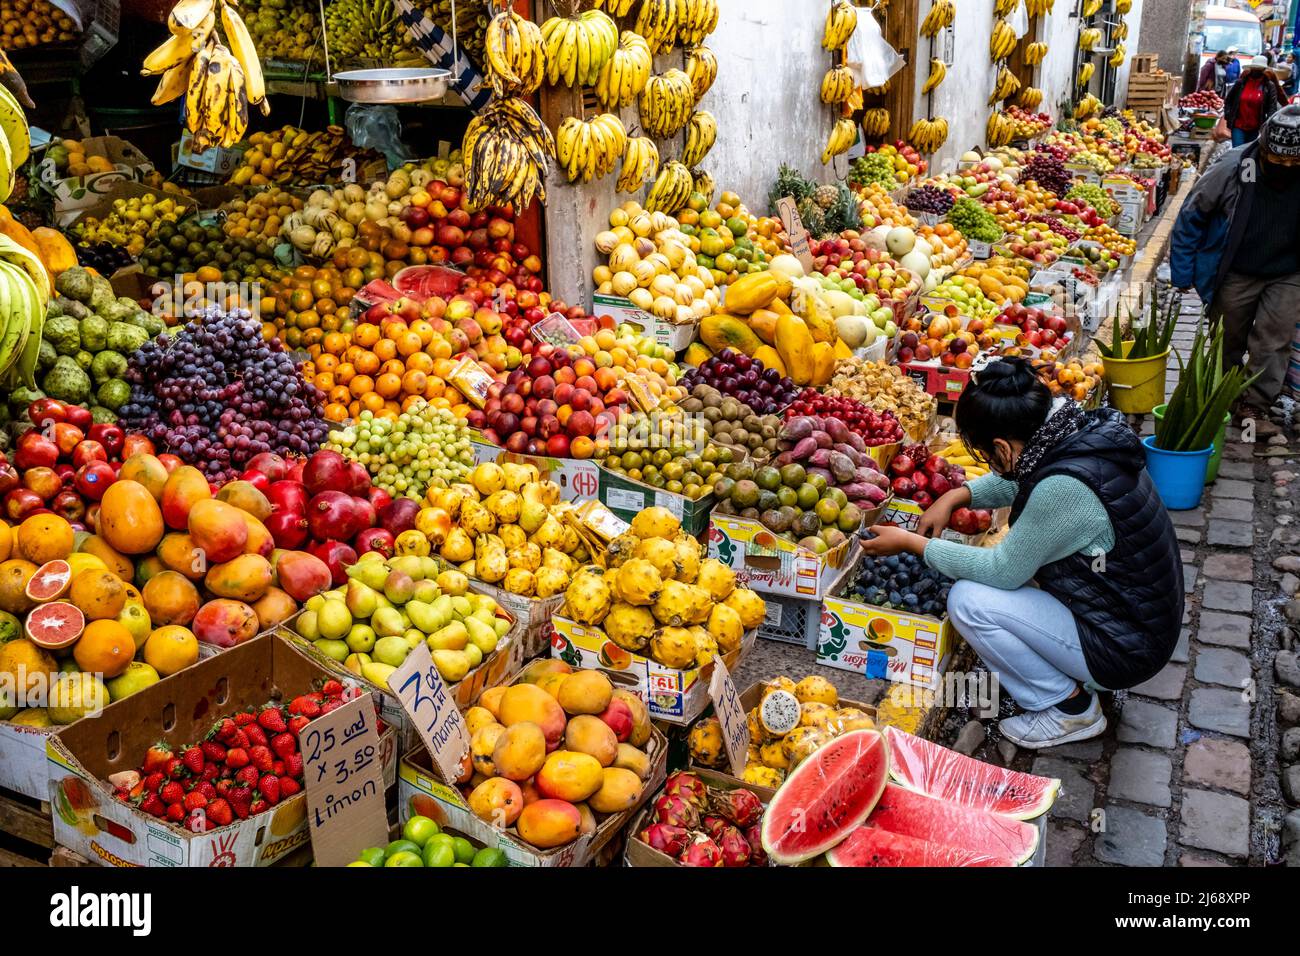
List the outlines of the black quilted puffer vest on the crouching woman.
{"type": "Polygon", "coordinates": [[[1140,684],[1174,653],[1183,618],[1178,537],[1147,475],[1141,445],[1118,411],[1088,412],[1083,429],[1019,483],[1013,523],[1049,475],[1069,475],[1092,489],[1110,516],[1115,546],[1096,571],[1095,555],[1076,553],[1044,564],[1035,580],[1074,613],[1097,684],[1112,691],[1140,684]]]}

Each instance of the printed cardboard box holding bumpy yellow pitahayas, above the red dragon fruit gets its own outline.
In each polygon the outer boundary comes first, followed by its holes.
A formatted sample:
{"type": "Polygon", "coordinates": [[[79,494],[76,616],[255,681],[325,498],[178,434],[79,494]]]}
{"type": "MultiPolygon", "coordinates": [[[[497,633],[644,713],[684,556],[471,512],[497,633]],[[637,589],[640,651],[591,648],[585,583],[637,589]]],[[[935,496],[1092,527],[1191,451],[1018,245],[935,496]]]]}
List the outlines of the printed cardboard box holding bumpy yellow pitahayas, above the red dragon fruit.
{"type": "MultiPolygon", "coordinates": [[[[693,723],[708,706],[711,663],[690,670],[666,667],[654,658],[624,650],[606,637],[598,627],[555,615],[551,619],[551,657],[571,667],[594,667],[611,675],[636,680],[637,693],[650,708],[650,715],[667,723],[693,723]]],[[[758,640],[758,631],[749,631],[738,648],[723,654],[728,671],[734,671],[758,640]]]]}

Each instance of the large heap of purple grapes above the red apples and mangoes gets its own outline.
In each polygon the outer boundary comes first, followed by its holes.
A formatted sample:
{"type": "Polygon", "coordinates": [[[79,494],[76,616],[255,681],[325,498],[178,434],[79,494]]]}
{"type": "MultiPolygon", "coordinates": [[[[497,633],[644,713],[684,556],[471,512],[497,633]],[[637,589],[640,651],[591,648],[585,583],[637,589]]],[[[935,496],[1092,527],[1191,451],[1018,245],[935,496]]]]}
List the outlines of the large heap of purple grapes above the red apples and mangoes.
{"type": "Polygon", "coordinates": [[[133,352],[125,377],[131,397],[118,412],[122,427],[211,481],[234,480],[264,451],[309,455],[329,432],[324,393],[246,310],[207,307],[133,352]]]}

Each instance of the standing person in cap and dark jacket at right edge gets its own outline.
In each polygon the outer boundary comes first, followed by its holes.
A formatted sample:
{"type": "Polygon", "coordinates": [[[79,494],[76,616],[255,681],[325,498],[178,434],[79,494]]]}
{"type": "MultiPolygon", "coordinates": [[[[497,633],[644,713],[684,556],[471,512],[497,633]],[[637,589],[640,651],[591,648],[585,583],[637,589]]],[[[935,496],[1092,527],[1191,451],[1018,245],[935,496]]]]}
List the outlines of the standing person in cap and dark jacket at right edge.
{"type": "Polygon", "coordinates": [[[1260,378],[1238,406],[1268,421],[1282,393],[1300,315],[1300,105],[1279,109],[1258,140],[1226,152],[1196,181],[1174,222],[1170,281],[1195,287],[1223,323],[1223,363],[1260,378]]]}

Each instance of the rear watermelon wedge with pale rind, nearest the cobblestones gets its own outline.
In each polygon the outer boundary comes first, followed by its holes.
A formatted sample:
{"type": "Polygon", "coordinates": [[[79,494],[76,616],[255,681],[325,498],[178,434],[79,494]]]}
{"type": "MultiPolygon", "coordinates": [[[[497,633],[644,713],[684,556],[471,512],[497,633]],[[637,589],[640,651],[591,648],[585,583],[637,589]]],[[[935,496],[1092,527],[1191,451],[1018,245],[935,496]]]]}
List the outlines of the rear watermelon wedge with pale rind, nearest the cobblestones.
{"type": "Polygon", "coordinates": [[[904,787],[1013,819],[1046,813],[1061,792],[1054,777],[1035,777],[985,763],[946,747],[885,727],[889,775],[904,787]]]}

